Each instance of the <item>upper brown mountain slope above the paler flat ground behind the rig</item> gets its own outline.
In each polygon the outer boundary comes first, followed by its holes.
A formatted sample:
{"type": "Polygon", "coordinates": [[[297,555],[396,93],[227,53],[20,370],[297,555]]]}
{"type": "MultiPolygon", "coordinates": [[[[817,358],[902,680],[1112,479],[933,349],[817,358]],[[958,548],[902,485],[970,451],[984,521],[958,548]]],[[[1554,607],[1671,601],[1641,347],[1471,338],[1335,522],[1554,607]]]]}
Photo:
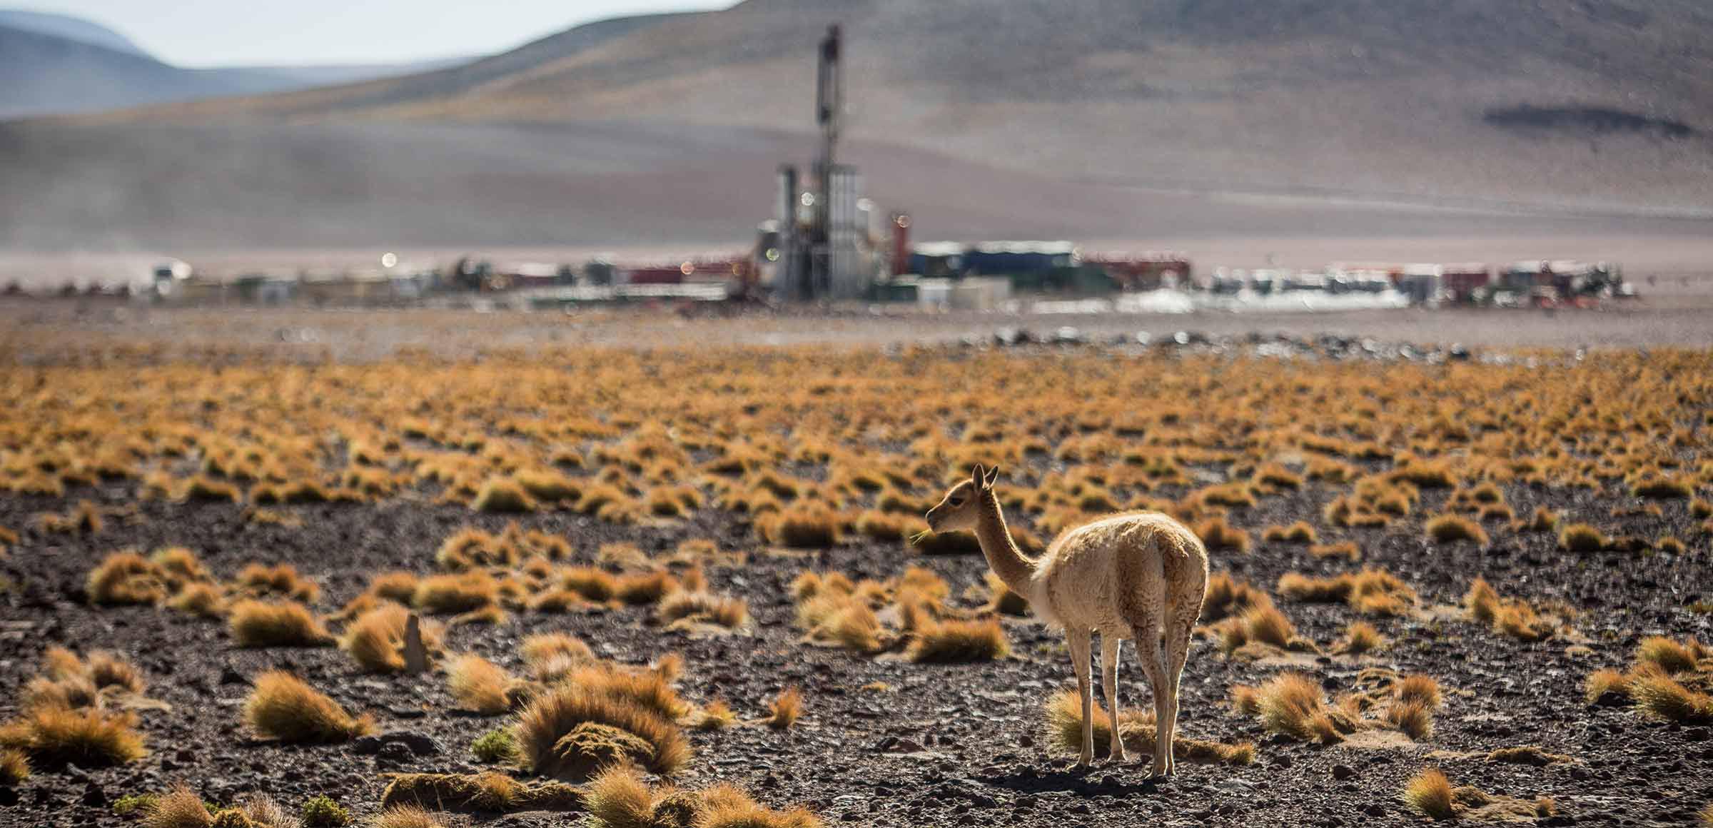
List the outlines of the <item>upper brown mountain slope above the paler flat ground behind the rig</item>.
{"type": "Polygon", "coordinates": [[[127,118],[802,129],[827,22],[850,38],[853,137],[1197,187],[1713,206],[1696,0],[749,0],[493,58],[475,82],[127,118]]]}

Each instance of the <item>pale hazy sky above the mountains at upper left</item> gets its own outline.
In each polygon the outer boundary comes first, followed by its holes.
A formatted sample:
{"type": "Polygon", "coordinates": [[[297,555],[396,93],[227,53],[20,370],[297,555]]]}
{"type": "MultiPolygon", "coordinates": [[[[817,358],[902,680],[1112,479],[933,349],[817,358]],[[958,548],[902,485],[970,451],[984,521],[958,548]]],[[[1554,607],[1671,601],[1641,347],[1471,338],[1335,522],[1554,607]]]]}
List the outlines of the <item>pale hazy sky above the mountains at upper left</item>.
{"type": "MultiPolygon", "coordinates": [[[[639,12],[719,9],[735,0],[36,0],[19,7],[86,17],[183,67],[394,63],[483,55],[639,12]]],[[[0,5],[12,5],[0,0],[0,5]]]]}

